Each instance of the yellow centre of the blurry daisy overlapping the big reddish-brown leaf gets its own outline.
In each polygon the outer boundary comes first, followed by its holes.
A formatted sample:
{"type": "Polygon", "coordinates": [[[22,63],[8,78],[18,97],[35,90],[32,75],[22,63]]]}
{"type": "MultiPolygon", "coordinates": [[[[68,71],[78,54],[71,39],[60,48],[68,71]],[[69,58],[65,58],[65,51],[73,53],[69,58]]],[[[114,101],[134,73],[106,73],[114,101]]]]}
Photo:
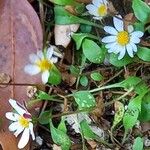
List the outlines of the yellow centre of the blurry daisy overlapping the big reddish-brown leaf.
{"type": "Polygon", "coordinates": [[[38,60],[36,63],[41,71],[50,70],[52,68],[52,63],[47,59],[38,60]]]}

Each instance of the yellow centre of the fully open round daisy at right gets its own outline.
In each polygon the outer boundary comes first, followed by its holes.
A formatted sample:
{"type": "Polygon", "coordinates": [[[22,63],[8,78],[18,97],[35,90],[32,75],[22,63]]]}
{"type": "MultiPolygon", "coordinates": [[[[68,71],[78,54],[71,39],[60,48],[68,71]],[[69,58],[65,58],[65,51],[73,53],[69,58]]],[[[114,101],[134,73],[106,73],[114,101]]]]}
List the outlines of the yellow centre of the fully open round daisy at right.
{"type": "Polygon", "coordinates": [[[127,31],[121,31],[118,33],[117,35],[117,42],[124,46],[126,44],[129,43],[130,37],[129,37],[129,33],[127,31]]]}

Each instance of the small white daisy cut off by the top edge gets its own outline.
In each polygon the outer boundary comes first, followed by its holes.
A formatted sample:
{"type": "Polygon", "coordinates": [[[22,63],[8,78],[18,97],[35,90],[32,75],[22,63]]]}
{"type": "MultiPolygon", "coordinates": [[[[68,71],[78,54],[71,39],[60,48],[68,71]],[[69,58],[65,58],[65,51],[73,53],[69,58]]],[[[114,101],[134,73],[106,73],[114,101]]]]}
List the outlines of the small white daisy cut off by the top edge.
{"type": "Polygon", "coordinates": [[[86,9],[94,16],[94,19],[101,20],[107,15],[108,2],[107,0],[93,0],[92,4],[86,6],[86,9]]]}

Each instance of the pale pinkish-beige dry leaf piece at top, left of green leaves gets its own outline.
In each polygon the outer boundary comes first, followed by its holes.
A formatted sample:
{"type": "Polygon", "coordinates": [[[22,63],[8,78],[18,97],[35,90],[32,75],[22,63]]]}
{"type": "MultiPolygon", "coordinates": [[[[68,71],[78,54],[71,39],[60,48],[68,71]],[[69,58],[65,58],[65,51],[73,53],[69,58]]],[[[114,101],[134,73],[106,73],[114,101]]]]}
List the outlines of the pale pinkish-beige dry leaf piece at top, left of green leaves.
{"type": "Polygon", "coordinates": [[[66,48],[71,41],[70,33],[76,32],[78,28],[79,24],[55,25],[55,45],[62,45],[66,48]]]}

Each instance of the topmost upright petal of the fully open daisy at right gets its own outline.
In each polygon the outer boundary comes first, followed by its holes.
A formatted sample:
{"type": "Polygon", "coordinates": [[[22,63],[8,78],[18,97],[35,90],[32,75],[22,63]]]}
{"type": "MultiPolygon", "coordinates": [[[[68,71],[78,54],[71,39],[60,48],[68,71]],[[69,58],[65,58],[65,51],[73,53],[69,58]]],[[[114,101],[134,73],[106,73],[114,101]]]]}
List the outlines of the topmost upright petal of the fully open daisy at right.
{"type": "Polygon", "coordinates": [[[113,22],[114,22],[114,26],[118,31],[123,31],[123,21],[122,21],[122,17],[120,15],[118,15],[117,17],[113,17],[113,22]],[[120,19],[118,19],[118,18],[120,19]]]}

